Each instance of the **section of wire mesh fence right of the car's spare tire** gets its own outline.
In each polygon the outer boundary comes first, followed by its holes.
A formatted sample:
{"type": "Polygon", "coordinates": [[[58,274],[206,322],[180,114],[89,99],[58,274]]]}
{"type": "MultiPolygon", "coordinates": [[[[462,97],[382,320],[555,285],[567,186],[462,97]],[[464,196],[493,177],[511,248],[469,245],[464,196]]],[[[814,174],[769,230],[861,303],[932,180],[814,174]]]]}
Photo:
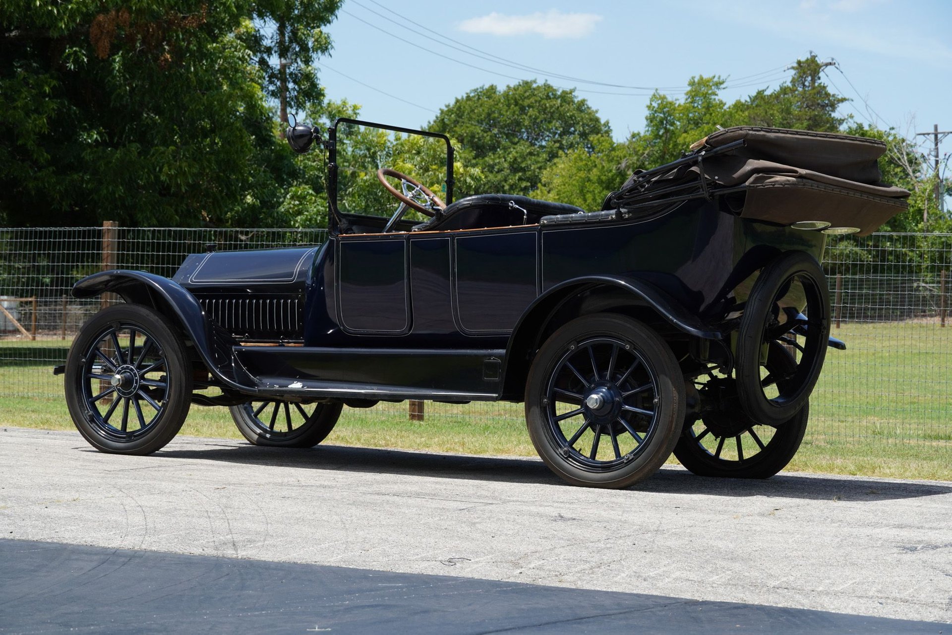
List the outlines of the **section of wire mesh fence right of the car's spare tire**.
{"type": "Polygon", "coordinates": [[[809,434],[952,449],[952,234],[843,238],[825,260],[847,349],[826,355],[809,434]]]}

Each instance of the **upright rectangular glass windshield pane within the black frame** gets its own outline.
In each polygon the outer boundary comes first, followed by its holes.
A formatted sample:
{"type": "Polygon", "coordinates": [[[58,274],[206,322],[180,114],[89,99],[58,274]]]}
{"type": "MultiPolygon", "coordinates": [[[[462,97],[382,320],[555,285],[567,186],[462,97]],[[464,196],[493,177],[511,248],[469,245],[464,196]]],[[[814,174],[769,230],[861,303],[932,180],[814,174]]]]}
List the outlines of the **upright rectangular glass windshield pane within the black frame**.
{"type": "MultiPolygon", "coordinates": [[[[389,168],[406,174],[446,200],[446,141],[440,137],[395,131],[373,125],[341,121],[337,124],[337,208],[346,214],[389,218],[400,205],[381,184],[377,170],[389,168]]],[[[413,193],[400,178],[386,177],[399,192],[413,193]]],[[[428,216],[407,208],[408,221],[428,216]]]]}

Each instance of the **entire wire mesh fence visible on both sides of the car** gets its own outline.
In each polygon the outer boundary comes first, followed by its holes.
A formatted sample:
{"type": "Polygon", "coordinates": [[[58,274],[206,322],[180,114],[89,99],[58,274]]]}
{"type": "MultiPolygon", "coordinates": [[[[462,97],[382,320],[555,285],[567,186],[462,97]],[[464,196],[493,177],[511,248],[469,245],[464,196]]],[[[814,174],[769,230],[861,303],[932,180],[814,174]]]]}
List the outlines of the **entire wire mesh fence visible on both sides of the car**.
{"type": "MultiPolygon", "coordinates": [[[[102,307],[69,288],[104,268],[171,276],[189,253],[317,245],[321,229],[4,228],[0,229],[0,399],[62,407],[62,364],[72,336],[102,307]]],[[[832,333],[847,349],[830,350],[811,397],[807,440],[814,444],[903,445],[952,450],[952,234],[880,233],[831,237],[825,262],[832,333]]],[[[361,414],[408,419],[407,404],[361,414]]],[[[521,426],[522,407],[426,404],[426,421],[521,426]]],[[[10,425],[15,422],[5,421],[10,425]]]]}

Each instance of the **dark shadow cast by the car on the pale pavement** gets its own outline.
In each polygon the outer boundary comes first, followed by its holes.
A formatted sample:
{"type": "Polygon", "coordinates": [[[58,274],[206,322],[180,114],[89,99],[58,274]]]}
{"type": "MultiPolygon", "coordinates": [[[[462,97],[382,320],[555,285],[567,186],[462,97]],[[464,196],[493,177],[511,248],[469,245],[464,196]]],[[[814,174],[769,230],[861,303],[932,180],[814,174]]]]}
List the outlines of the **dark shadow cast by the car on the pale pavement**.
{"type": "MultiPolygon", "coordinates": [[[[181,446],[179,446],[181,447],[181,446]]],[[[201,459],[254,466],[332,469],[351,472],[429,476],[545,486],[568,486],[549,471],[542,461],[529,458],[501,458],[431,454],[396,449],[352,446],[317,446],[292,449],[258,446],[223,446],[217,449],[175,449],[156,458],[201,459]]],[[[856,477],[836,477],[783,472],[766,480],[719,479],[695,476],[677,466],[665,466],[629,491],[709,496],[768,496],[806,500],[874,502],[918,498],[952,493],[944,483],[882,481],[856,477]]]]}

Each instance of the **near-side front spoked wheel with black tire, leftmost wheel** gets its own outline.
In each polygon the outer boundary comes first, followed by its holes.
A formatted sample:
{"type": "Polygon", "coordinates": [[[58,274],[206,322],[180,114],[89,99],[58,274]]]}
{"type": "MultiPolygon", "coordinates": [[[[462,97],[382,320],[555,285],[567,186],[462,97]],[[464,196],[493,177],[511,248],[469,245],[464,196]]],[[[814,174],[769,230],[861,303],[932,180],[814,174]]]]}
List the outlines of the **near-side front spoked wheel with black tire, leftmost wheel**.
{"type": "Polygon", "coordinates": [[[150,454],[185,423],[192,370],[168,318],[141,305],[116,305],[80,329],[69,348],[65,387],[69,415],[91,446],[150,454]]]}

